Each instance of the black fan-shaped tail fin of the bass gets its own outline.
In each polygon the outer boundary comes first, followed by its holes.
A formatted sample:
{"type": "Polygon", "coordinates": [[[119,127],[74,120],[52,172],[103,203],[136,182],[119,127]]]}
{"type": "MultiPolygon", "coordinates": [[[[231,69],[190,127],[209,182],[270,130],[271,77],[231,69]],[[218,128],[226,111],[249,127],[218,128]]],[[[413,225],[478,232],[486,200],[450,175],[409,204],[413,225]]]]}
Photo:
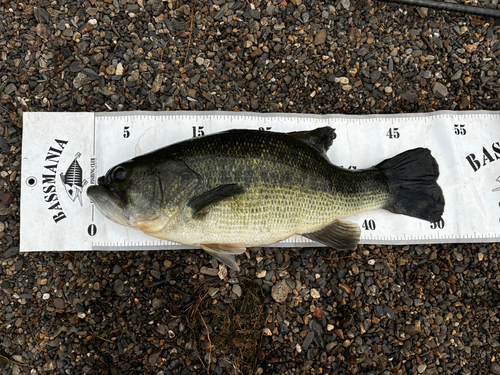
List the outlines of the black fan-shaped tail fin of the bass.
{"type": "Polygon", "coordinates": [[[441,219],[444,196],[436,182],[439,166],[430,150],[408,150],[375,167],[389,180],[392,199],[384,207],[386,210],[430,222],[441,219]]]}

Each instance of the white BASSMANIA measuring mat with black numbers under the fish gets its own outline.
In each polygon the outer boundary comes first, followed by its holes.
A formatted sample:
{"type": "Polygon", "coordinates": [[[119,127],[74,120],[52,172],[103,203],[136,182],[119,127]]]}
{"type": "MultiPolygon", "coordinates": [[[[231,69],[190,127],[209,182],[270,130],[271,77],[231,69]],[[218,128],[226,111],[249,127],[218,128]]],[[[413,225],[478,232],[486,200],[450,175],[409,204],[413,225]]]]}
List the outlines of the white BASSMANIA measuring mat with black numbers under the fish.
{"type": "MultiPolygon", "coordinates": [[[[427,147],[445,197],[437,223],[374,210],[351,216],[365,244],[496,242],[500,239],[500,112],[405,115],[294,115],[245,112],[24,114],[21,251],[174,249],[104,218],[86,195],[97,178],[125,160],[227,129],[277,132],[335,129],[333,164],[368,168],[427,147]]],[[[317,245],[294,236],[273,246],[317,245]]]]}

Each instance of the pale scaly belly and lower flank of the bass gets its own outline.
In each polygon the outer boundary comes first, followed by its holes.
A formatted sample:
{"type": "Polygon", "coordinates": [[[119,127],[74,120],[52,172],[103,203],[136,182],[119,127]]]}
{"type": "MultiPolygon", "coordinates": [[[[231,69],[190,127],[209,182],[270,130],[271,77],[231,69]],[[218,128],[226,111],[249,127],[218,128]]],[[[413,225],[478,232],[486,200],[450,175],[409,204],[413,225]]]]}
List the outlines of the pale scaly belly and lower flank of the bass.
{"type": "MultiPolygon", "coordinates": [[[[379,206],[379,199],[370,207],[379,206]]],[[[201,219],[185,210],[168,230],[155,234],[173,242],[262,246],[292,235],[319,230],[333,220],[360,210],[359,197],[283,187],[250,188],[210,207],[201,219]]]]}

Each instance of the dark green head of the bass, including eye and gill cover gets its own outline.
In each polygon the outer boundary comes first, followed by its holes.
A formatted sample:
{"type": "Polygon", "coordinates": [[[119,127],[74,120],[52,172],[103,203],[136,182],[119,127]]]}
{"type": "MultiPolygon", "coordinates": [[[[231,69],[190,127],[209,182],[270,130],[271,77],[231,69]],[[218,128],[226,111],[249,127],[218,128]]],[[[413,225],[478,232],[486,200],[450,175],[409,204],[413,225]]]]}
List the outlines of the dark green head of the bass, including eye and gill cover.
{"type": "Polygon", "coordinates": [[[155,165],[130,160],[99,177],[87,195],[109,220],[145,233],[161,231],[170,220],[163,209],[162,179],[155,165]]]}

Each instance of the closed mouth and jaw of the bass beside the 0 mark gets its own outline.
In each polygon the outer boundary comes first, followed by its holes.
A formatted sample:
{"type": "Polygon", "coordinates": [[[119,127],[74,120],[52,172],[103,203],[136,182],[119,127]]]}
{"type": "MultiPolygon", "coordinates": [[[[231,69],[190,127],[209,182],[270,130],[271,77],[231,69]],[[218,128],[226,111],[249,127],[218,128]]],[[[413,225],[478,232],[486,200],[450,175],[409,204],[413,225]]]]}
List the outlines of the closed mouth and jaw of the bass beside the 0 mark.
{"type": "Polygon", "coordinates": [[[131,226],[125,215],[120,194],[116,189],[108,186],[103,177],[99,177],[97,185],[92,185],[87,189],[87,196],[106,218],[120,225],[131,226]]]}

